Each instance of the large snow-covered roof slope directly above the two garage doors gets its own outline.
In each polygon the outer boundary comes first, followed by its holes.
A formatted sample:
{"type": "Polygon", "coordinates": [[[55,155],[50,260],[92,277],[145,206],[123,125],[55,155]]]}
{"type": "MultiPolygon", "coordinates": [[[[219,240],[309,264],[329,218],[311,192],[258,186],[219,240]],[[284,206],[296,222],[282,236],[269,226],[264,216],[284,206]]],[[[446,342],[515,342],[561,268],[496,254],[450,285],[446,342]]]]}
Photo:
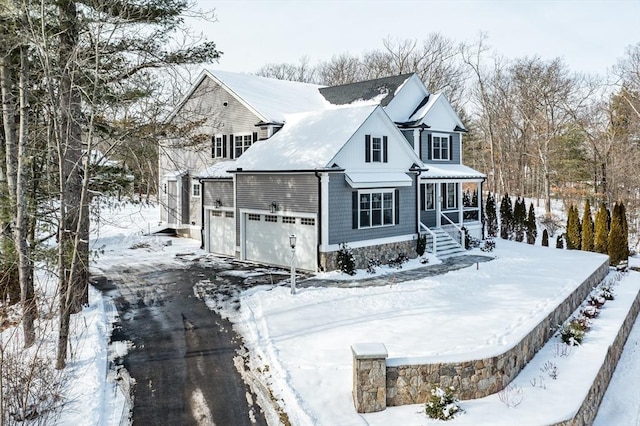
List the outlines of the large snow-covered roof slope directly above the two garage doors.
{"type": "Polygon", "coordinates": [[[271,138],[251,146],[236,160],[244,170],[316,170],[330,161],[377,105],[331,108],[294,114],[271,138]]]}

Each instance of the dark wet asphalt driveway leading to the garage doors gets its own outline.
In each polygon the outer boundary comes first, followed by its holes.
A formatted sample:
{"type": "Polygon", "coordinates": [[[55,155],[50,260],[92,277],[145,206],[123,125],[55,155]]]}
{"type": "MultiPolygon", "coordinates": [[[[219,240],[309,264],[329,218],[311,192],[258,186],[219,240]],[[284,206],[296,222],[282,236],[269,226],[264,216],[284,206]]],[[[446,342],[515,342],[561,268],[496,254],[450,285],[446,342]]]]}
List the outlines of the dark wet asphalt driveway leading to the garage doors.
{"type": "Polygon", "coordinates": [[[112,341],[130,341],[121,363],[135,380],[134,425],[266,425],[256,397],[236,365],[241,339],[231,323],[194,295],[233,298],[241,289],[273,280],[272,271],[239,262],[185,261],[185,268],[140,265],[103,269],[94,285],[119,314],[112,341]],[[229,273],[229,268],[240,273],[229,273]],[[251,271],[247,278],[247,269],[251,271]]]}

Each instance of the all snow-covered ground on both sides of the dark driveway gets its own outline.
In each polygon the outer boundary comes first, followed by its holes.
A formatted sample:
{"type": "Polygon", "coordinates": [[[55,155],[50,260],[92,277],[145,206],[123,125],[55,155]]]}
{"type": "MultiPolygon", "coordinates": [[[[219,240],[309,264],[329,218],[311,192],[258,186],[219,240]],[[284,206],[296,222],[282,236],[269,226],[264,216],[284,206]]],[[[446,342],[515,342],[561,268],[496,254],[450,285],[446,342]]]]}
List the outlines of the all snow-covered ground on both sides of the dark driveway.
{"type": "MultiPolygon", "coordinates": [[[[204,254],[199,243],[187,239],[145,237],[159,217],[157,208],[125,206],[111,209],[108,223],[92,238],[101,262],[177,262],[176,254],[204,254]],[[134,244],[147,244],[128,250],[134,244]]],[[[546,309],[556,303],[601,261],[599,255],[531,247],[497,240],[497,259],[465,270],[413,282],[370,288],[258,287],[241,296],[242,308],[223,313],[235,323],[252,354],[254,372],[268,384],[294,425],[431,424],[421,405],[391,407],[381,413],[358,415],[351,397],[350,346],[382,342],[389,356],[427,360],[455,360],[502,352],[519,339],[546,309]]],[[[640,258],[631,260],[640,266],[640,258]]],[[[415,264],[419,266],[419,264],[415,264]]],[[[406,267],[405,267],[406,268],[406,267]]],[[[363,276],[366,276],[362,274],[363,276]]],[[[331,274],[322,276],[330,278],[331,274]]],[[[463,401],[466,412],[451,424],[545,424],[570,413],[588,387],[610,343],[625,300],[640,286],[640,273],[623,277],[616,299],[607,302],[584,344],[568,356],[556,356],[552,341],[515,381],[522,402],[508,408],[496,395],[463,401]],[[556,380],[541,368],[553,362],[556,380]],[[541,378],[542,376],[542,378],[541,378]],[[536,386],[532,385],[533,379],[536,386]]],[[[210,301],[211,302],[211,301],[210,301]]],[[[210,303],[214,307],[213,303],[210,303]]],[[[90,293],[90,306],[74,316],[77,337],[69,363],[68,403],[60,425],[115,425],[126,399],[106,380],[109,356],[126,348],[107,347],[114,309],[99,292],[90,293]]],[[[640,325],[631,333],[596,420],[598,425],[640,425],[640,325]]],[[[391,360],[390,360],[391,361],[391,360]]]]}

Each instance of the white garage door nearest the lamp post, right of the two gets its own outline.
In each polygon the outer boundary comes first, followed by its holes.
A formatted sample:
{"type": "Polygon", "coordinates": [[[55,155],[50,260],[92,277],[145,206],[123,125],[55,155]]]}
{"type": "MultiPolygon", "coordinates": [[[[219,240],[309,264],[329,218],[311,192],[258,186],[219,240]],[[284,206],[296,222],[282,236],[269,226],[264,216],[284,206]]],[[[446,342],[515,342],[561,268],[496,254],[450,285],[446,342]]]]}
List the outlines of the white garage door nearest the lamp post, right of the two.
{"type": "Polygon", "coordinates": [[[296,234],[296,267],[316,270],[317,232],[315,218],[244,215],[245,257],[247,260],[283,267],[291,265],[289,235],[296,234]]]}

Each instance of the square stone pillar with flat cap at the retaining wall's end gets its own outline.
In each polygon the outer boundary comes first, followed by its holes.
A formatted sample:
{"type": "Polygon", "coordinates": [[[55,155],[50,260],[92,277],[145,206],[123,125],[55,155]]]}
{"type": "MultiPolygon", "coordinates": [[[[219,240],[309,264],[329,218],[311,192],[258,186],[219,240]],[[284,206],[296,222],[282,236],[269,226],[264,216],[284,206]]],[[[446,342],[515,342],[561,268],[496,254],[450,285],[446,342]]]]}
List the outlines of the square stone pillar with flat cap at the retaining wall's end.
{"type": "Polygon", "coordinates": [[[353,352],[353,402],[358,413],[387,408],[387,348],[382,343],[357,343],[353,352]]]}

